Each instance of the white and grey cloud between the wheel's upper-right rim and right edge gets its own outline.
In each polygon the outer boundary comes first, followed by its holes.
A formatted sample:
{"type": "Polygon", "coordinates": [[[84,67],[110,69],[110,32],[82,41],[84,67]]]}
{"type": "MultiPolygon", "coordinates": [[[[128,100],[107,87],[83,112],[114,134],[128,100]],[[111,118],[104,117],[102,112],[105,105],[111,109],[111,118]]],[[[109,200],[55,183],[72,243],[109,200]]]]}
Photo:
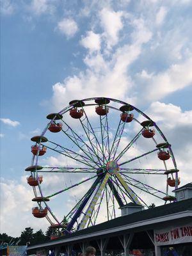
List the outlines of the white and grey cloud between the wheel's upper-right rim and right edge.
{"type": "Polygon", "coordinates": [[[182,111],[179,106],[152,102],[145,111],[154,120],[172,145],[181,186],[191,182],[192,110],[182,111]]]}

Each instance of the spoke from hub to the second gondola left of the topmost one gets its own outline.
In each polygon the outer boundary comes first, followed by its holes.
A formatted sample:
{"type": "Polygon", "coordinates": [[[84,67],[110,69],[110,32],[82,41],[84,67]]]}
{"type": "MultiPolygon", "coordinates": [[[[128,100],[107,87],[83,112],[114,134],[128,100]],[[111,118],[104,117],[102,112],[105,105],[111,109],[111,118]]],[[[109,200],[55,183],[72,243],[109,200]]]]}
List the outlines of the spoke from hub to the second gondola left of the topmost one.
{"type": "MultiPolygon", "coordinates": [[[[62,121],[63,121],[63,120],[62,120],[62,121]]],[[[97,159],[98,159],[98,156],[95,154],[95,151],[94,151],[89,145],[87,145],[87,143],[85,143],[85,142],[82,140],[82,138],[81,138],[76,132],[74,132],[74,131],[70,128],[70,126],[69,126],[65,121],[63,121],[63,123],[67,126],[67,131],[70,131],[70,133],[69,133],[69,132],[64,131],[64,130],[62,129],[62,131],[67,135],[67,137],[68,137],[71,141],[73,141],[73,143],[76,144],[76,146],[77,146],[80,150],[82,150],[82,151],[84,152],[84,154],[86,154],[88,157],[90,156],[92,159],[94,159],[94,157],[96,156],[97,159]],[[81,144],[80,144],[80,143],[81,143],[81,144]],[[88,151],[86,151],[86,150],[83,148],[84,146],[88,149],[88,151]]],[[[91,143],[91,145],[92,145],[92,143],[91,143]]]]}

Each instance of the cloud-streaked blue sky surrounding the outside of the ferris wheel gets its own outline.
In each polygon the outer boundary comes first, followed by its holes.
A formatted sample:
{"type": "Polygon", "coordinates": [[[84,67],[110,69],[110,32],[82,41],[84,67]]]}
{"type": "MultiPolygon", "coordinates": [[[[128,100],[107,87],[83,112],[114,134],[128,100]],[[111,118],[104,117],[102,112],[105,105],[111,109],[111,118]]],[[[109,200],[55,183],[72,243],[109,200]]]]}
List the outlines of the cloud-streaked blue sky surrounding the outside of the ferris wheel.
{"type": "Polygon", "coordinates": [[[46,229],[25,182],[30,138],[72,99],[140,108],[172,143],[182,184],[191,181],[191,21],[190,0],[1,1],[2,232],[46,229]],[[15,224],[15,202],[26,223],[15,224]]]}

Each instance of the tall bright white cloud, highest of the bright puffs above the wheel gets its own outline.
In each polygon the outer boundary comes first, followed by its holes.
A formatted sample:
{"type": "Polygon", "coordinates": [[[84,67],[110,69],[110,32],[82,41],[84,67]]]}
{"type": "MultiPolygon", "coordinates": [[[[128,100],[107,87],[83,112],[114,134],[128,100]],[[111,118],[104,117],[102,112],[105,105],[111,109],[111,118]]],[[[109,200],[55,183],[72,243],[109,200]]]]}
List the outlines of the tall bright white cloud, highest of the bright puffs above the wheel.
{"type": "Polygon", "coordinates": [[[122,15],[123,12],[114,12],[107,8],[99,13],[100,25],[104,29],[104,38],[109,48],[118,43],[119,32],[124,26],[122,15]]]}

